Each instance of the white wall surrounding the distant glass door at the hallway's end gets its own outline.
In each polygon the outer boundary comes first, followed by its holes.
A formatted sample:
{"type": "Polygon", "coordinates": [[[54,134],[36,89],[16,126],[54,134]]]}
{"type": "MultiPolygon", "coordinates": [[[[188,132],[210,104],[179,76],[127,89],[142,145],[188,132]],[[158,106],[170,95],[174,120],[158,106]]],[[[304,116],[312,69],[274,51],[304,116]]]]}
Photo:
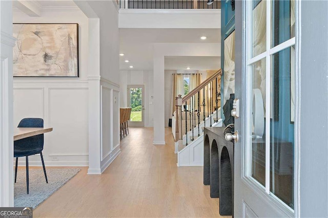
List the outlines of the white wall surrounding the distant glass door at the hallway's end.
{"type": "Polygon", "coordinates": [[[120,71],[120,107],[128,106],[128,85],[145,85],[145,126],[153,126],[153,71],[120,71]]]}

